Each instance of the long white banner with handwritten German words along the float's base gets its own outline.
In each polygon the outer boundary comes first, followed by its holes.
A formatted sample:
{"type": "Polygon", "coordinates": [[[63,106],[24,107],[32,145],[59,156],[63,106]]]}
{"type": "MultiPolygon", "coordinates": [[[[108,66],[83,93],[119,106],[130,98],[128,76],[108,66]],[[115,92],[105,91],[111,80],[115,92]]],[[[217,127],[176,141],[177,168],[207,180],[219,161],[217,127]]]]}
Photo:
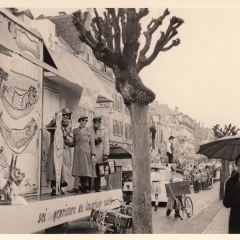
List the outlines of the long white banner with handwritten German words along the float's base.
{"type": "MultiPolygon", "coordinates": [[[[27,198],[26,198],[27,199],[27,198]]],[[[100,193],[71,195],[28,205],[1,206],[0,233],[34,233],[64,222],[90,216],[93,208],[113,209],[120,206],[122,189],[100,193]]]]}

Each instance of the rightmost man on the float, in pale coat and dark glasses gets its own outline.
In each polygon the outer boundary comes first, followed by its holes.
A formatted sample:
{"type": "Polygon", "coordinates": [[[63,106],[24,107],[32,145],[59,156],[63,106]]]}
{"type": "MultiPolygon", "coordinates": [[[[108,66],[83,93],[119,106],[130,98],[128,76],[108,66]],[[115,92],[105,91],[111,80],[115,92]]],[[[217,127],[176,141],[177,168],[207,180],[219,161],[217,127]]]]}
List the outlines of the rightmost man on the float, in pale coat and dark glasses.
{"type": "Polygon", "coordinates": [[[95,143],[95,160],[93,162],[94,189],[101,192],[101,178],[96,175],[96,162],[104,162],[109,155],[109,136],[107,128],[101,125],[102,117],[96,115],[93,118],[93,125],[90,127],[95,143]]]}

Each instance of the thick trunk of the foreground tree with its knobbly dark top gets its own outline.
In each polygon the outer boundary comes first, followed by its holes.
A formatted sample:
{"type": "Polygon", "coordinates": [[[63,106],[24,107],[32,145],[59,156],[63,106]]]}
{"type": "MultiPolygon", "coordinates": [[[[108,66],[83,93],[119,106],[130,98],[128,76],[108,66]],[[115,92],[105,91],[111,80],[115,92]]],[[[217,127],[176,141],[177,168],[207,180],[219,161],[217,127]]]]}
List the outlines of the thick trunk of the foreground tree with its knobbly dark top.
{"type": "Polygon", "coordinates": [[[115,70],[116,89],[128,105],[132,126],[133,233],[152,233],[149,104],[155,94],[146,88],[134,67],[115,70]],[[145,103],[145,104],[142,104],[145,103]]]}

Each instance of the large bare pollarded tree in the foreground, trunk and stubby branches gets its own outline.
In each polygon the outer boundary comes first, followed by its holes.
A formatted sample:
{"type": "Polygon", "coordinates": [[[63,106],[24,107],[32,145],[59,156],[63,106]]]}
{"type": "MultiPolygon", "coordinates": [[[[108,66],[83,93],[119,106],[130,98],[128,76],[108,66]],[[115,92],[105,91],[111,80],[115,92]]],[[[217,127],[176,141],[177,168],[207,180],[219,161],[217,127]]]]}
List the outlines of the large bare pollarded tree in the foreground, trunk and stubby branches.
{"type": "Polygon", "coordinates": [[[102,18],[94,8],[95,17],[91,22],[94,34],[88,25],[88,12],[83,14],[80,10],[74,12],[73,24],[80,34],[79,39],[92,49],[96,59],[113,69],[116,89],[129,109],[133,142],[133,233],[152,233],[148,114],[149,103],[154,101],[155,94],[144,86],[139,73],[151,64],[160,52],[166,52],[180,44],[179,39],[172,41],[171,39],[178,34],[177,28],[182,25],[183,20],[177,17],[170,19],[166,32],[161,32],[153,52],[147,57],[152,35],[170,14],[168,9],[159,18],[152,19],[147,26],[147,31],[143,33],[145,44],[140,52],[138,41],[141,35],[140,20],[148,15],[148,9],[106,10],[102,18]]]}

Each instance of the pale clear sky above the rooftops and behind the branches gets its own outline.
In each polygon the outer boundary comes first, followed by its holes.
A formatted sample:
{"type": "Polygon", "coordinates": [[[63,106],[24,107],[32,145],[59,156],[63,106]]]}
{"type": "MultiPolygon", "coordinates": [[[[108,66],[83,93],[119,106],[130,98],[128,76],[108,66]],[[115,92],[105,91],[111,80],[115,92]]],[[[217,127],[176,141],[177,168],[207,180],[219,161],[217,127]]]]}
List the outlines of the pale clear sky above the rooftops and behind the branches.
{"type": "MultiPolygon", "coordinates": [[[[88,5],[75,0],[58,4],[50,0],[20,2],[22,5],[16,2],[12,6],[27,6],[34,17],[41,13],[56,16],[60,11],[72,13],[86,7],[149,7],[148,16],[141,21],[142,32],[152,18],[169,8],[170,15],[155,32],[148,54],[152,53],[160,31],[166,31],[172,16],[185,22],[174,38],[180,38],[181,43],[170,51],[161,52],[140,72],[144,84],[155,92],[159,104],[167,104],[173,110],[178,107],[204,127],[232,124],[240,128],[240,0],[162,0],[161,4],[153,0],[133,0],[127,6],[126,3],[113,6],[111,1],[89,1],[88,5]]],[[[140,42],[141,49],[144,37],[140,42]]]]}

